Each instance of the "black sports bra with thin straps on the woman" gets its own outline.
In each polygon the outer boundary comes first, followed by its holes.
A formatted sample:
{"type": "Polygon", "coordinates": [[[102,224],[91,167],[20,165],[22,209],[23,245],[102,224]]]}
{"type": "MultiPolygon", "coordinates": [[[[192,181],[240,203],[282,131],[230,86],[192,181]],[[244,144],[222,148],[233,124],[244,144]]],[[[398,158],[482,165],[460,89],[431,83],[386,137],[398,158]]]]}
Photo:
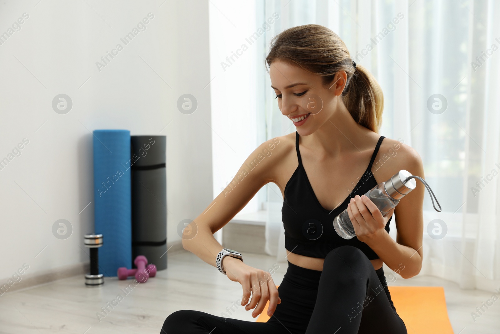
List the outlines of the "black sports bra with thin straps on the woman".
{"type": "MultiPolygon", "coordinates": [[[[284,247],[295,254],[325,258],[326,254],[333,248],[351,245],[361,249],[370,260],[379,258],[367,244],[359,241],[357,237],[354,236],[352,239],[340,237],[333,228],[333,218],[347,208],[351,197],[356,194],[361,196],[378,184],[371,172],[371,166],[385,137],[380,136],[378,139],[370,163],[352,192],[333,210],[323,208],[312,190],[302,166],[298,137],[298,132],[295,132],[298,166],[284,187],[283,206],[281,207],[284,247]]],[[[389,232],[391,219],[392,216],[385,225],[387,232],[389,232]]]]}

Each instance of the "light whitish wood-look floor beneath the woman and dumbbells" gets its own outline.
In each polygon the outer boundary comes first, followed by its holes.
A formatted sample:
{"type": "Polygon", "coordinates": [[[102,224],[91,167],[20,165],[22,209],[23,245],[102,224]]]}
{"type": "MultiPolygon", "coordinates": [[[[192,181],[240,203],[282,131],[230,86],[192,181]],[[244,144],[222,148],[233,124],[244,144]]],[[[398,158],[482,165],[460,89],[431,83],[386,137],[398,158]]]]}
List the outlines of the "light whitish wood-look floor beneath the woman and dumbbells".
{"type": "MultiPolygon", "coordinates": [[[[244,254],[245,263],[261,268],[272,268],[275,259],[270,256],[244,254]]],[[[273,274],[279,284],[286,271],[286,262],[278,262],[273,274]]],[[[388,270],[386,269],[386,275],[388,270]]],[[[189,252],[170,254],[168,268],[158,271],[146,283],[124,289],[131,283],[106,278],[104,285],[87,288],[82,276],[74,276],[33,288],[6,293],[0,297],[1,333],[159,333],[168,314],[179,309],[196,309],[207,313],[227,314],[226,308],[236,311],[231,317],[255,321],[251,310],[238,305],[242,290],[215,267],[189,252]],[[109,312],[99,321],[96,313],[121,295],[122,300],[108,307],[109,312]]],[[[491,293],[480,290],[462,290],[457,284],[430,276],[410,279],[398,277],[389,285],[443,286],[448,313],[455,334],[499,333],[500,303],[493,303],[474,322],[470,313],[491,293]]],[[[104,313],[102,313],[104,314],[104,313]]],[[[227,316],[227,315],[224,315],[227,316]]],[[[425,333],[418,333],[425,334],[425,333]]]]}

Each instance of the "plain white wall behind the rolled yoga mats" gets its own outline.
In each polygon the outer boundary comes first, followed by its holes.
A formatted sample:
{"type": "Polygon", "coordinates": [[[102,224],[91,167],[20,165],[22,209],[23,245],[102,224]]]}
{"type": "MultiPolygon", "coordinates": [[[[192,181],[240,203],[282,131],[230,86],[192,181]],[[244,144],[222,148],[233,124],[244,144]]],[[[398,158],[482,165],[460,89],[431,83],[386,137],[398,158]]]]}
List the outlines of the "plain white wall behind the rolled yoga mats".
{"type": "Polygon", "coordinates": [[[180,240],[181,220],[210,203],[207,7],[196,0],[0,4],[0,34],[29,16],[0,45],[0,159],[29,141],[0,170],[0,277],[23,263],[24,275],[34,275],[88,261],[80,246],[93,231],[94,129],[166,135],[168,243],[180,240]],[[148,13],[154,18],[146,29],[124,45],[120,38],[148,13]],[[95,63],[118,43],[123,50],[99,71],[95,63]],[[61,93],[73,102],[64,115],[51,107],[61,93]],[[186,93],[198,102],[190,115],[176,107],[186,93]],[[73,227],[65,240],[52,234],[58,219],[73,227]]]}

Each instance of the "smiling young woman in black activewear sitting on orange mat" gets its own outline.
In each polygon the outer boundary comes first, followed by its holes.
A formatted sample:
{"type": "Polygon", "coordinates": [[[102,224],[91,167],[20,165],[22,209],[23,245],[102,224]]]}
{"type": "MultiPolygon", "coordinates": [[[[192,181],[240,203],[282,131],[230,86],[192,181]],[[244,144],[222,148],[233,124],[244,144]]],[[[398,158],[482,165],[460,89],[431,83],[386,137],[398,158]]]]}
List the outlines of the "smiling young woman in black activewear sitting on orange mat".
{"type": "Polygon", "coordinates": [[[241,305],[253,309],[253,317],[269,301],[270,318],[253,322],[178,310],[161,333],[406,333],[382,263],[403,278],[420,271],[424,187],[385,217],[362,195],[401,169],[423,178],[419,155],[378,135],[380,86],[331,30],[304,25],[283,31],[271,41],[266,64],[279,109],[296,132],[258,146],[231,185],[190,224],[196,233],[182,244],[242,285],[241,305]],[[288,250],[277,289],[267,271],[245,264],[213,237],[268,182],[281,189],[288,250]],[[333,228],[344,209],[356,233],[352,239],[333,228]],[[395,241],[388,234],[393,212],[395,241]]]}

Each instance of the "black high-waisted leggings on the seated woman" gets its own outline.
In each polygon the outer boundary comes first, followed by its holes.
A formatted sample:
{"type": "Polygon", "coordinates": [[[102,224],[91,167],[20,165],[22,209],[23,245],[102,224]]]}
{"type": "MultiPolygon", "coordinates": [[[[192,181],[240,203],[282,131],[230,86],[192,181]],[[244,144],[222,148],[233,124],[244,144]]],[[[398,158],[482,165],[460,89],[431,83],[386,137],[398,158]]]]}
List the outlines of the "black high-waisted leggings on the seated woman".
{"type": "Polygon", "coordinates": [[[375,270],[353,246],[331,250],[322,271],[288,261],[278,293],[281,303],[267,322],[184,309],[168,315],[161,334],[407,334],[383,269],[375,270]]]}

